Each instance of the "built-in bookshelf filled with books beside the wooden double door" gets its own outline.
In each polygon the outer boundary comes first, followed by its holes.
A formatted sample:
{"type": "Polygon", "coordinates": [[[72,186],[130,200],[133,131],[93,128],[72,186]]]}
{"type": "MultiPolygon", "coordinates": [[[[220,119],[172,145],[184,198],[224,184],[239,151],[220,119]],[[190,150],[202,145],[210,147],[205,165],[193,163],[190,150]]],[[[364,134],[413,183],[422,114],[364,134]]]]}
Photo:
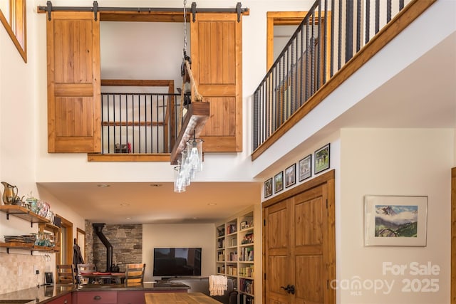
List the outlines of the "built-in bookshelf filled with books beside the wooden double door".
{"type": "Polygon", "coordinates": [[[261,293],[259,217],[259,206],[253,206],[216,225],[216,271],[233,279],[239,304],[253,304],[261,293]]]}

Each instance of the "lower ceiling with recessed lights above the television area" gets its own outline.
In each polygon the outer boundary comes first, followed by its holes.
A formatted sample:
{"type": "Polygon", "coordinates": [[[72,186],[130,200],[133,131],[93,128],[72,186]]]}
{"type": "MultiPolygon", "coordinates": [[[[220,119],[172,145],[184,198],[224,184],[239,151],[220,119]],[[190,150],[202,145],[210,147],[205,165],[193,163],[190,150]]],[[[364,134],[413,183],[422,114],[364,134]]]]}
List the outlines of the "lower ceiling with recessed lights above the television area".
{"type": "Polygon", "coordinates": [[[39,183],[84,219],[106,224],[214,223],[259,204],[261,184],[194,182],[175,193],[170,182],[39,183]],[[158,186],[158,187],[157,187],[158,186]]]}

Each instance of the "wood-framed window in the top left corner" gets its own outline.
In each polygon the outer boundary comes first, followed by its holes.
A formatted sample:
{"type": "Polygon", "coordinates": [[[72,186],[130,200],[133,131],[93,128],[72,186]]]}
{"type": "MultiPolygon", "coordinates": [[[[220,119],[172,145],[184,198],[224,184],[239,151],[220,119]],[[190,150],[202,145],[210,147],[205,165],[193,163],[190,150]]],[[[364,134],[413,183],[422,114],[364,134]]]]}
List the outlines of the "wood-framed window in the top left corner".
{"type": "Polygon", "coordinates": [[[9,0],[9,16],[12,25],[6,20],[0,9],[0,22],[4,25],[6,32],[21,54],[24,62],[27,63],[27,9],[26,0],[9,0]]]}

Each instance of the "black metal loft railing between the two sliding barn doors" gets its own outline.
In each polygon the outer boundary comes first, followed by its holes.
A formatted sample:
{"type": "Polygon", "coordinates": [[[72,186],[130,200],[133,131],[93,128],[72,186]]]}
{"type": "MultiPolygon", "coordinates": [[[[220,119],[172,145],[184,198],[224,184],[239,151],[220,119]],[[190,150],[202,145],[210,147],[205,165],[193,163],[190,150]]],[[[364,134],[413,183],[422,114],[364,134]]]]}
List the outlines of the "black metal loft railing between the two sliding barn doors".
{"type": "Polygon", "coordinates": [[[170,153],[176,125],[170,107],[179,107],[179,94],[101,93],[102,154],[170,153]]]}

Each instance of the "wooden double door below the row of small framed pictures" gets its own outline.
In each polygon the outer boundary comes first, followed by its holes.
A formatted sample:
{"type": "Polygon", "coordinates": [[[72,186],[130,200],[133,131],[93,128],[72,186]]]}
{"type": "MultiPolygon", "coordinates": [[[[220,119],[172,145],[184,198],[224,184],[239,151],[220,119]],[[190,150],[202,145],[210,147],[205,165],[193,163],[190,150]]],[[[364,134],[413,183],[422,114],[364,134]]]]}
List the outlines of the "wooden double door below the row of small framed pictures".
{"type": "Polygon", "coordinates": [[[264,202],[264,303],[335,303],[333,171],[264,202]]]}

